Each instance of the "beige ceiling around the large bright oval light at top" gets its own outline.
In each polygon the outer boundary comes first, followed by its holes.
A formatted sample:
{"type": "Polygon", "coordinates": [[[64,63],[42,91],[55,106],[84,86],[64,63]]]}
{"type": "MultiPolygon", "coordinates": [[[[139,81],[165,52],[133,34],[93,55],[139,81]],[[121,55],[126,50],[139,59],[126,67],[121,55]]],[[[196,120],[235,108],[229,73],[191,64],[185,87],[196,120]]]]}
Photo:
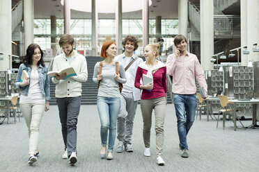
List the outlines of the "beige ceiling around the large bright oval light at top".
{"type": "MultiPolygon", "coordinates": [[[[72,0],[70,0],[72,1],[72,0]]],[[[82,0],[83,1],[83,0],[82,0]]],[[[109,0],[107,0],[109,1],[109,0]]],[[[127,0],[130,1],[130,0],[127,0]]],[[[140,3],[142,0],[139,0],[140,3]]],[[[57,18],[63,18],[63,6],[60,0],[35,0],[34,18],[50,18],[51,15],[57,18]]],[[[178,0],[152,0],[149,9],[150,18],[162,16],[162,18],[178,18],[178,0]]],[[[114,18],[115,14],[99,14],[99,18],[114,18]]],[[[123,19],[137,18],[141,19],[142,11],[125,12],[123,19]]],[[[80,12],[71,10],[71,18],[91,19],[91,12],[80,12]]]]}

